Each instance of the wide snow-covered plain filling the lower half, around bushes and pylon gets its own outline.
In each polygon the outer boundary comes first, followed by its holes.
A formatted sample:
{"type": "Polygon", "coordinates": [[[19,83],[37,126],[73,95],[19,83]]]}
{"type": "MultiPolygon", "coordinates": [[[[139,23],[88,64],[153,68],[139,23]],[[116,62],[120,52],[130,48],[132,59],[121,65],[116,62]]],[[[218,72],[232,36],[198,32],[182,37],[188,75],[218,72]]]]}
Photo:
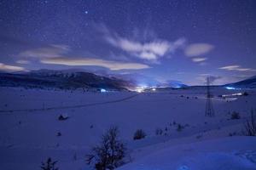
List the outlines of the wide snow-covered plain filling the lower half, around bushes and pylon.
{"type": "Polygon", "coordinates": [[[256,109],[256,90],[214,89],[214,117],[205,116],[205,93],[0,88],[0,169],[40,169],[48,157],[60,170],[90,169],[85,156],[111,126],[119,127],[131,155],[119,169],[256,169],[256,138],[243,135],[256,109]],[[245,91],[249,95],[236,95],[245,91]],[[230,119],[233,111],[241,118],[230,119]],[[69,118],[59,121],[60,115],[69,118]],[[147,133],[145,139],[133,140],[137,129],[147,133]]]}

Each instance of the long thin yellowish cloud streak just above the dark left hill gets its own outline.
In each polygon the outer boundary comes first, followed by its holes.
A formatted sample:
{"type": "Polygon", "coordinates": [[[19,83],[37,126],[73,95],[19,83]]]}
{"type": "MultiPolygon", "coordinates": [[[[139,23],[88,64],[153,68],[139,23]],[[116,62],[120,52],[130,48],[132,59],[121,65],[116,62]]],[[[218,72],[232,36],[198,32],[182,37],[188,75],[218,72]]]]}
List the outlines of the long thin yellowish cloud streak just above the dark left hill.
{"type": "Polygon", "coordinates": [[[47,58],[47,59],[41,59],[41,63],[51,64],[51,65],[102,66],[112,71],[140,70],[140,69],[150,68],[148,65],[143,65],[139,63],[128,63],[128,62],[119,62],[119,61],[113,61],[113,60],[92,59],[92,58],[75,58],[75,59],[64,58],[64,57],[47,58]]]}

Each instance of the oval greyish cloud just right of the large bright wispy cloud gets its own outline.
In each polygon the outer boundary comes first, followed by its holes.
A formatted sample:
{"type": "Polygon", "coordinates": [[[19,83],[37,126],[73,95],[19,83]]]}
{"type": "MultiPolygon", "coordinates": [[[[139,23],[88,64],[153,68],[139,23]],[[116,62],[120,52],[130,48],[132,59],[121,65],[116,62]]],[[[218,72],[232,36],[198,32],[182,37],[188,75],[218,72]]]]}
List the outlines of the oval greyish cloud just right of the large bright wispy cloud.
{"type": "Polygon", "coordinates": [[[188,57],[195,57],[202,54],[207,54],[214,48],[208,43],[192,43],[184,49],[184,54],[188,57]]]}

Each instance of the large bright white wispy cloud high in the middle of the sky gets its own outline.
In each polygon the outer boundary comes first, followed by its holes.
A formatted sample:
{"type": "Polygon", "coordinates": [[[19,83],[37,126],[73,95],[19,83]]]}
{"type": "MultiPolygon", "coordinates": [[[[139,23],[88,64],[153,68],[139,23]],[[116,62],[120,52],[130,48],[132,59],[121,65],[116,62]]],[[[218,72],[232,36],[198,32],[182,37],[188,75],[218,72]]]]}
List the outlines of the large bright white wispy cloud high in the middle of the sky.
{"type": "Polygon", "coordinates": [[[175,42],[169,42],[157,37],[147,38],[126,38],[120,37],[117,33],[110,31],[106,26],[99,26],[99,31],[103,33],[103,38],[115,48],[119,48],[132,56],[140,59],[157,62],[168,53],[173,53],[177,48],[183,47],[185,38],[179,38],[175,42]]]}

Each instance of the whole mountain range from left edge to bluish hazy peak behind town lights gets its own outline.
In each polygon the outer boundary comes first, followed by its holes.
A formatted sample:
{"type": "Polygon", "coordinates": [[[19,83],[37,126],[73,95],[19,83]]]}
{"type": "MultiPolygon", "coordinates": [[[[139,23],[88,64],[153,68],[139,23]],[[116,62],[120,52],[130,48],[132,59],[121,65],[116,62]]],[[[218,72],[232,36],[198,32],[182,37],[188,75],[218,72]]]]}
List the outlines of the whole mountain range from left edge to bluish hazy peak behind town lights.
{"type": "Polygon", "coordinates": [[[0,86],[26,88],[107,88],[115,90],[131,89],[137,86],[183,88],[182,82],[158,82],[152,77],[137,74],[102,75],[81,70],[38,70],[28,72],[0,72],[0,86]]]}

